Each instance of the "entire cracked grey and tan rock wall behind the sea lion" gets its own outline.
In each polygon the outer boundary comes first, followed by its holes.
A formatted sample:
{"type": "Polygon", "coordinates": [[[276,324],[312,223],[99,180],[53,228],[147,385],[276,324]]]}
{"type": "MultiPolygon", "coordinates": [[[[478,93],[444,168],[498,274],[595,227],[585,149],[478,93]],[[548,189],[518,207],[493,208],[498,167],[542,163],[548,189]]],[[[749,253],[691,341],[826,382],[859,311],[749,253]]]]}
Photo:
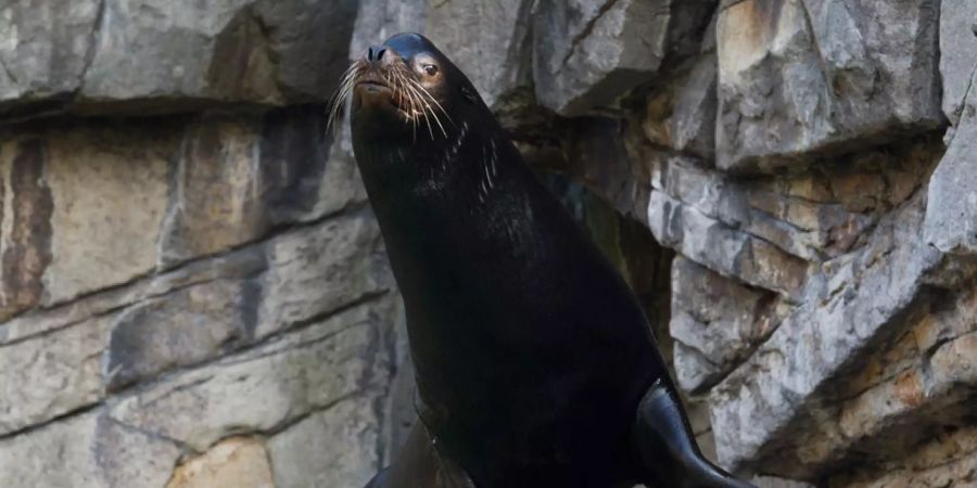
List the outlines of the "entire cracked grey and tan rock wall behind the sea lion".
{"type": "Polygon", "coordinates": [[[709,455],[763,487],[977,486],[969,0],[0,4],[0,486],[389,461],[399,301],[322,103],[401,30],[555,174],[709,455]]]}

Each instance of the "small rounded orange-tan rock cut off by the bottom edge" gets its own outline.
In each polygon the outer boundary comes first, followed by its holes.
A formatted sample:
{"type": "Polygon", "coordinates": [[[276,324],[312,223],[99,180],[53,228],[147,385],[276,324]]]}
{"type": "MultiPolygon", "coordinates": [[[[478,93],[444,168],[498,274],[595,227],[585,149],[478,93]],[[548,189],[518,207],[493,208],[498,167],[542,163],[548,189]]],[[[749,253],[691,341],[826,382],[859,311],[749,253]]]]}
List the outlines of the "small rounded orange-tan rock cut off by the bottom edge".
{"type": "Polygon", "coordinates": [[[276,488],[268,453],[246,437],[221,440],[173,473],[166,488],[276,488]]]}

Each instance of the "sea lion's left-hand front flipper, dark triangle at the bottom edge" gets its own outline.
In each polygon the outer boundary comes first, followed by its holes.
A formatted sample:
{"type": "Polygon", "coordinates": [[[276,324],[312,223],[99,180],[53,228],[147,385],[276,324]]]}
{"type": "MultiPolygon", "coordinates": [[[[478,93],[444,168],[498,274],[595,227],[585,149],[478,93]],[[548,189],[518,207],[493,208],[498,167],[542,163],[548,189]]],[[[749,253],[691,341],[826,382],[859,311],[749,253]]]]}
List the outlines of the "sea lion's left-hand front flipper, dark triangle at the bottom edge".
{"type": "Polygon", "coordinates": [[[418,421],[394,463],[365,488],[475,488],[461,466],[437,449],[423,422],[418,421]]]}

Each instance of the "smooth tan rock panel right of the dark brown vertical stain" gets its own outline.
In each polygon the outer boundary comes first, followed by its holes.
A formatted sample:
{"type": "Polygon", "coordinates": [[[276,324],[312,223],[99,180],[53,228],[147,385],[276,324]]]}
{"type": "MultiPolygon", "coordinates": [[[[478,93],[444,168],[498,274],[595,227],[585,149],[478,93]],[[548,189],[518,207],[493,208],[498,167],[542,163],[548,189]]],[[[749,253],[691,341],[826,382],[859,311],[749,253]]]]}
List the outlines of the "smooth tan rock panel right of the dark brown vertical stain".
{"type": "Polygon", "coordinates": [[[45,180],[54,210],[45,304],[128,282],[156,266],[176,136],[148,124],[50,134],[45,180]]]}

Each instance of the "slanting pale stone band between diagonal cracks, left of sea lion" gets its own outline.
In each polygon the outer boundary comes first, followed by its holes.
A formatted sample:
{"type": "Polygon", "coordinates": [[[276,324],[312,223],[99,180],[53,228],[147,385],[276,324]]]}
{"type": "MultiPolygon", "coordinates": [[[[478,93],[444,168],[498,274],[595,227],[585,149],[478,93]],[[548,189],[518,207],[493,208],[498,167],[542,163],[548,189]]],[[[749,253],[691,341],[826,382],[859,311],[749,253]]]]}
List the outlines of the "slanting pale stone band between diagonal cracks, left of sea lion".
{"type": "Polygon", "coordinates": [[[370,217],[345,216],[4,324],[33,335],[0,345],[0,436],[375,298],[380,249],[370,217]]]}

